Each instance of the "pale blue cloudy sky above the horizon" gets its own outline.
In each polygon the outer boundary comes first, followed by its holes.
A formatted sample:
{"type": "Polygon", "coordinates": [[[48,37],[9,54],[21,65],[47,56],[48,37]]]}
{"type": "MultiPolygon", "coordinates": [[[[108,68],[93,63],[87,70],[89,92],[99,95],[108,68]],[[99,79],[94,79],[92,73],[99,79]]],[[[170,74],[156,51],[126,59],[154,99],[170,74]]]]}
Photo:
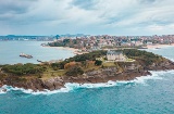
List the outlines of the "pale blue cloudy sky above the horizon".
{"type": "Polygon", "coordinates": [[[174,0],[0,0],[0,35],[174,35],[174,0]]]}

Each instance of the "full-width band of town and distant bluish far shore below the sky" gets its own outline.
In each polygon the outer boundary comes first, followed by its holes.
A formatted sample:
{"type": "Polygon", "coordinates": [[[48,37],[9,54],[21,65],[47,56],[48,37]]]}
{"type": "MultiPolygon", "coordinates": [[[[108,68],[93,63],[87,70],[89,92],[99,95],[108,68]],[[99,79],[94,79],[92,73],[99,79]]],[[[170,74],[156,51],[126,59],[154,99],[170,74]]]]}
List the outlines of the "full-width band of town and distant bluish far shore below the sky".
{"type": "Polygon", "coordinates": [[[146,45],[170,45],[174,43],[174,35],[162,36],[90,36],[90,35],[59,35],[57,36],[0,36],[0,40],[22,40],[22,41],[58,41],[64,43],[69,39],[65,47],[76,48],[84,51],[99,50],[104,48],[117,47],[144,47],[146,45]]]}

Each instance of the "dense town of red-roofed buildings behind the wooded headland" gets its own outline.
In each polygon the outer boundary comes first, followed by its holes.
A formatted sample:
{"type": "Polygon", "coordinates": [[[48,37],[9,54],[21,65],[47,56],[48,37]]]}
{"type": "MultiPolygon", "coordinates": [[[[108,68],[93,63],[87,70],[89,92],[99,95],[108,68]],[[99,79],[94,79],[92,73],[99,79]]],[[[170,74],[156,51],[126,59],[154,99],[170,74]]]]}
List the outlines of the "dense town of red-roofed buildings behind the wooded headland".
{"type": "Polygon", "coordinates": [[[82,37],[60,37],[55,41],[64,41],[69,39],[70,43],[65,47],[72,47],[82,50],[99,50],[104,48],[117,47],[145,47],[146,45],[170,45],[174,43],[174,35],[162,36],[82,36],[82,37]]]}

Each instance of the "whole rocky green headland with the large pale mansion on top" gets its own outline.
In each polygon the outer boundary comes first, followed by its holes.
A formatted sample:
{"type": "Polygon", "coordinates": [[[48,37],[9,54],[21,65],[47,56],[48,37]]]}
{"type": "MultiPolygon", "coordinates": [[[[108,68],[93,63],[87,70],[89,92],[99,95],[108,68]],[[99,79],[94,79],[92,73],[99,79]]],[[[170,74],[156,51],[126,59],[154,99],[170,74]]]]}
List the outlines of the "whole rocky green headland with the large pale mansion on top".
{"type": "Polygon", "coordinates": [[[65,83],[107,83],[132,80],[151,75],[149,71],[174,69],[174,62],[136,49],[100,50],[75,55],[58,63],[14,64],[0,66],[0,87],[3,85],[33,89],[55,90],[65,83]]]}

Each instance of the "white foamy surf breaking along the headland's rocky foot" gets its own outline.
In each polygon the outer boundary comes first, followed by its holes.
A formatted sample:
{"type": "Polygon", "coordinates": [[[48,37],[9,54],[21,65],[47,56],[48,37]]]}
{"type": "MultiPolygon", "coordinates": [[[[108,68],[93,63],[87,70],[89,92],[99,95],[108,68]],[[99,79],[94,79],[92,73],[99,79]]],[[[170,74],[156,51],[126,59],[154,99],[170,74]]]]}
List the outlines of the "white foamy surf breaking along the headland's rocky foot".
{"type": "Polygon", "coordinates": [[[99,83],[99,84],[76,84],[76,83],[66,83],[64,86],[64,88],[58,89],[58,90],[44,90],[44,91],[33,91],[32,89],[23,89],[23,88],[17,88],[17,87],[11,87],[11,86],[3,86],[2,88],[0,88],[0,94],[2,93],[7,93],[9,91],[22,91],[24,93],[28,93],[28,94],[54,94],[58,92],[70,92],[70,91],[74,91],[80,88],[107,88],[107,87],[114,87],[114,86],[123,86],[123,85],[128,85],[128,84],[138,84],[138,85],[145,85],[147,86],[147,80],[149,79],[163,79],[164,74],[170,73],[170,74],[174,74],[174,69],[173,71],[160,71],[160,72],[154,72],[151,71],[150,72],[152,75],[148,75],[148,76],[141,76],[141,77],[136,77],[134,80],[122,80],[122,81],[112,81],[109,80],[108,83],[99,83]]]}

